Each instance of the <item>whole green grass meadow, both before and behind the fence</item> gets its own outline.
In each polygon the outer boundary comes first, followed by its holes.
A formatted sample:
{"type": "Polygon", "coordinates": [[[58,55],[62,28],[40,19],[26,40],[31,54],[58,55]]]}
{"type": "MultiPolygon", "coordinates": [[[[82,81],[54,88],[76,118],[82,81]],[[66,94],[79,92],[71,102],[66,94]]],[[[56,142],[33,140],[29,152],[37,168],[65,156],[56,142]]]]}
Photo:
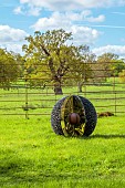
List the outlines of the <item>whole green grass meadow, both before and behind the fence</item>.
{"type": "MultiPolygon", "coordinates": [[[[74,91],[64,88],[64,95],[74,91]]],[[[97,112],[116,108],[119,112],[98,118],[87,138],[53,133],[50,115],[45,114],[51,114],[52,106],[63,96],[54,96],[46,90],[27,92],[24,88],[0,91],[1,188],[125,187],[124,85],[83,87],[81,95],[97,112]]]]}

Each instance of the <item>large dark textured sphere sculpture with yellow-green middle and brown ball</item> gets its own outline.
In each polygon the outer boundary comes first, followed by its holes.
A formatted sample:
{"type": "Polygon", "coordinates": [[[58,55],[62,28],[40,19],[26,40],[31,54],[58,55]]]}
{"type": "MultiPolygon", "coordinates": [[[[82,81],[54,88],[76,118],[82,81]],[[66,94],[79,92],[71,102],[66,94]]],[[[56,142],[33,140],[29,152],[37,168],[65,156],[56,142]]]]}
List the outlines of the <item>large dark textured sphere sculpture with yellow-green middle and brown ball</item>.
{"type": "Polygon", "coordinates": [[[90,136],[96,122],[97,114],[93,104],[77,95],[63,97],[51,113],[51,126],[58,135],[90,136]]]}

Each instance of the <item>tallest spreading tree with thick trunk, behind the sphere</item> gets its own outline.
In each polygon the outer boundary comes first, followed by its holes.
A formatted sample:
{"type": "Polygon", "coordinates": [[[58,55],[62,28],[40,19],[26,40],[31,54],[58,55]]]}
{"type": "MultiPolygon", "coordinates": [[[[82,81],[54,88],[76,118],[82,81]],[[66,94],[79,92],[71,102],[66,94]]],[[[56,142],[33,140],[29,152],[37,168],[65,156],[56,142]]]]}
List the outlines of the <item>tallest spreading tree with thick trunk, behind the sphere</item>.
{"type": "MultiPolygon", "coordinates": [[[[45,33],[35,32],[27,40],[29,44],[23,45],[23,51],[27,56],[28,79],[32,85],[52,83],[58,94],[62,90],[61,85],[69,83],[73,76],[76,76],[76,82],[81,80],[83,82],[85,69],[83,64],[90,61],[90,51],[86,45],[73,45],[70,42],[72,33],[66,33],[62,29],[45,33]],[[41,82],[37,79],[41,79],[41,82]]],[[[87,66],[85,71],[87,72],[87,66]]]]}

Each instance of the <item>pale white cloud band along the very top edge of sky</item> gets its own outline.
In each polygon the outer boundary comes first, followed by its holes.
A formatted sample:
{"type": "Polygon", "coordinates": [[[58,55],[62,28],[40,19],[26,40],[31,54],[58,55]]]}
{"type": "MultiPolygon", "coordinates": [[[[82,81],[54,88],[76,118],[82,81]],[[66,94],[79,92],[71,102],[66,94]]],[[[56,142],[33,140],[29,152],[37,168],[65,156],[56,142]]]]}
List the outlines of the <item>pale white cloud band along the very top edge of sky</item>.
{"type": "Polygon", "coordinates": [[[83,10],[112,6],[124,6],[125,0],[20,0],[22,4],[46,8],[49,10],[83,10]]]}

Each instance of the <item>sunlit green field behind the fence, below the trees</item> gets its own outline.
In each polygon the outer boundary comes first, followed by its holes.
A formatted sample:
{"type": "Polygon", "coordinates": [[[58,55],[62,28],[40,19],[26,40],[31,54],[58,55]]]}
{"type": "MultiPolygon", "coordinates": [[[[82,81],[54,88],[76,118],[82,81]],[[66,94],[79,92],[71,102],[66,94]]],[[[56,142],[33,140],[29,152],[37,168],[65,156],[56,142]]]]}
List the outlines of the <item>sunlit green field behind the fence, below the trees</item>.
{"type": "Polygon", "coordinates": [[[9,91],[0,90],[0,116],[51,115],[54,104],[62,97],[75,94],[87,97],[97,113],[112,112],[114,115],[125,114],[125,84],[117,77],[111,77],[105,83],[84,84],[82,93],[76,86],[63,87],[63,95],[54,95],[53,87],[30,88],[25,83],[14,84],[9,91]]]}

